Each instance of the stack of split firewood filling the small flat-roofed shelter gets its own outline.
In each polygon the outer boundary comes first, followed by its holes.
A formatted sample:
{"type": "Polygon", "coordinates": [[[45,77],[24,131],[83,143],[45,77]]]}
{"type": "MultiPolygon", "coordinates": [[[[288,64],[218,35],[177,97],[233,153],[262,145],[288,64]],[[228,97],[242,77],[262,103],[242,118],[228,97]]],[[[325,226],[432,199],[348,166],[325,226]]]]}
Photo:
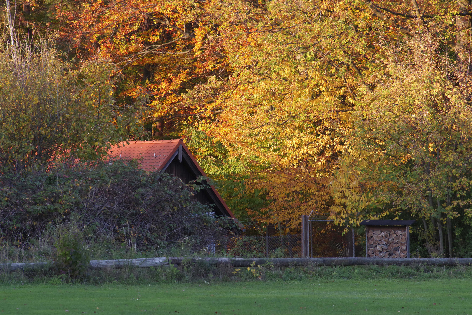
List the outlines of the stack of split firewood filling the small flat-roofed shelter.
{"type": "Polygon", "coordinates": [[[406,258],[406,230],[368,230],[367,256],[406,258]]]}

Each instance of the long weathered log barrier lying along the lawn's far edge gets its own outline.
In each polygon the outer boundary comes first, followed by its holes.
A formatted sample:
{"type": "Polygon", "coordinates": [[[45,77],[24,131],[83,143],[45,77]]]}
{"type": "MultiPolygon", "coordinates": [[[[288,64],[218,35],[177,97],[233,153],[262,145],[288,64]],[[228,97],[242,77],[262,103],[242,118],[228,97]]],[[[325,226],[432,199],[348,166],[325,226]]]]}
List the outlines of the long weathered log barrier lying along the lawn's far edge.
{"type": "MultiPolygon", "coordinates": [[[[183,257],[155,257],[137,259],[116,260],[91,260],[91,269],[107,268],[146,268],[170,265],[181,265],[183,257]]],[[[472,258],[193,258],[191,264],[228,264],[233,267],[249,267],[251,264],[273,264],[279,267],[288,266],[362,266],[362,265],[429,265],[429,266],[456,266],[472,265],[472,258]]],[[[37,268],[50,268],[51,263],[24,263],[24,264],[1,264],[0,268],[7,271],[28,270],[37,268]]]]}

